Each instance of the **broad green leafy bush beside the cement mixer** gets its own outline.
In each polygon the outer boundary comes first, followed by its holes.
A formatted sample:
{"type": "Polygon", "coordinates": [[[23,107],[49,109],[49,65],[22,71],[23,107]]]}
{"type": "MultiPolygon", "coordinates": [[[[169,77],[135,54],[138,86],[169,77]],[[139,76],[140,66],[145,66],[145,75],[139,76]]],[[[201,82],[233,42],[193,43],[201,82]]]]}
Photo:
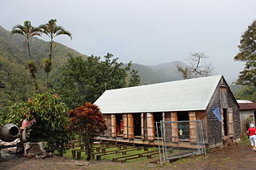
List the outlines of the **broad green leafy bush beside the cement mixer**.
{"type": "Polygon", "coordinates": [[[36,123],[30,127],[31,142],[43,141],[46,151],[65,152],[65,144],[70,141],[68,126],[68,109],[57,93],[36,94],[28,101],[17,104],[9,103],[0,112],[0,123],[14,123],[21,126],[23,120],[35,119],[36,123]]]}

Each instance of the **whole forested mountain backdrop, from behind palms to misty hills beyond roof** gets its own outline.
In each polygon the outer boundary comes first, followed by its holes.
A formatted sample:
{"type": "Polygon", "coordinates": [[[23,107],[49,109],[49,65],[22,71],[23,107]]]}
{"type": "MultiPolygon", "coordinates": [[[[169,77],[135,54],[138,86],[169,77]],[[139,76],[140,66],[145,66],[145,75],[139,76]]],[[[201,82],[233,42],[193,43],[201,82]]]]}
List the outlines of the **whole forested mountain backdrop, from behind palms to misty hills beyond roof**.
{"type": "MultiPolygon", "coordinates": [[[[14,34],[13,38],[11,38],[10,31],[0,26],[0,81],[6,85],[5,89],[0,89],[0,100],[2,101],[0,105],[9,100],[14,102],[25,101],[34,93],[33,81],[28,70],[25,69],[25,63],[29,59],[25,41],[26,38],[17,34],[14,34]]],[[[49,42],[39,38],[31,38],[30,49],[31,57],[39,68],[36,77],[39,89],[44,90],[46,75],[41,65],[42,59],[49,56],[49,42]]],[[[68,57],[69,53],[72,57],[80,56],[86,58],[86,55],[78,53],[74,49],[55,43],[53,49],[53,70],[50,72],[50,88],[54,88],[58,81],[58,70],[70,58],[68,57]]],[[[131,69],[138,70],[141,85],[147,85],[182,80],[182,75],[178,73],[176,64],[186,65],[181,61],[172,61],[160,65],[139,65],[133,63],[131,69]]],[[[235,89],[235,92],[238,91],[234,87],[231,89],[235,89]]]]}

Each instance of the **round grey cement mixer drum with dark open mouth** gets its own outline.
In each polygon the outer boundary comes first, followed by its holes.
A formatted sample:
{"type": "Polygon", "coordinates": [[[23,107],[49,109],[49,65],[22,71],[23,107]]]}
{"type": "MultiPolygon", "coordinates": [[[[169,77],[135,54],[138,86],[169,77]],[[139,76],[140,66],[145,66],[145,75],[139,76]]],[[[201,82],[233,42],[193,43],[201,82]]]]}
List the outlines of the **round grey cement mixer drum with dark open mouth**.
{"type": "Polygon", "coordinates": [[[0,127],[0,140],[11,142],[18,138],[19,128],[14,124],[6,124],[0,127]]]}

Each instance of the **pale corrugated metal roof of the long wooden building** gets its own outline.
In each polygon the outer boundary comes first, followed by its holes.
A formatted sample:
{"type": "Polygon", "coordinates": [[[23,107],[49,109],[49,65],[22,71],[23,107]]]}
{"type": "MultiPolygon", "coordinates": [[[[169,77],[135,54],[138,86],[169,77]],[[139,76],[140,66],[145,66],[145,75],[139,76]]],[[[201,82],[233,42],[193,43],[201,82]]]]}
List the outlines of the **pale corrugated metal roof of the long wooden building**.
{"type": "Polygon", "coordinates": [[[106,90],[95,101],[102,113],[205,110],[221,75],[106,90]]]}

